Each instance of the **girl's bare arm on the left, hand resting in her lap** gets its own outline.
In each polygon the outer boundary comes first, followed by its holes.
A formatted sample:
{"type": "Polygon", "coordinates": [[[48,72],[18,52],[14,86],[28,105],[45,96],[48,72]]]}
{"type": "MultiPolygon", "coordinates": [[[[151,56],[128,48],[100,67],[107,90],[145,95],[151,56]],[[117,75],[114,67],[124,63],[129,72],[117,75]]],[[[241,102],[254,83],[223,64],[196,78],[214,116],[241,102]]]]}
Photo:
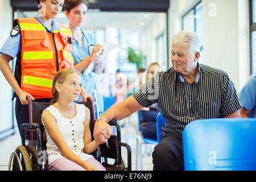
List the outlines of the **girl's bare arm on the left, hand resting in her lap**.
{"type": "Polygon", "coordinates": [[[42,119],[44,122],[44,126],[49,134],[49,137],[55,142],[55,144],[59,147],[61,155],[63,155],[68,160],[71,160],[81,167],[86,169],[87,171],[95,171],[96,168],[91,164],[85,162],[84,160],[80,159],[70,148],[68,147],[67,142],[63,138],[60,133],[59,127],[56,125],[56,119],[52,116],[49,111],[44,111],[42,114],[42,119]]]}

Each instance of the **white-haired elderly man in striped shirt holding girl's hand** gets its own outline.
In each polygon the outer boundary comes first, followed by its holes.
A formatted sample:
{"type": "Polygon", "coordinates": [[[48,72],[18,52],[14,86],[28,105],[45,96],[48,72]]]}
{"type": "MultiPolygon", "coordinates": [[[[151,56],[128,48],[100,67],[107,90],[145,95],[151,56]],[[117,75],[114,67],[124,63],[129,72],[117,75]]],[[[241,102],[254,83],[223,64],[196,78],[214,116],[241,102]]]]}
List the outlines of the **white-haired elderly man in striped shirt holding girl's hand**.
{"type": "Polygon", "coordinates": [[[199,40],[193,32],[174,36],[171,51],[172,68],[159,72],[125,101],[106,111],[97,119],[94,139],[104,143],[111,134],[107,122],[123,119],[142,107],[158,103],[166,118],[162,141],[152,154],[154,170],[183,169],[184,127],[195,120],[241,117],[241,104],[227,73],[199,64],[199,40]],[[108,127],[102,135],[100,127],[108,127]]]}

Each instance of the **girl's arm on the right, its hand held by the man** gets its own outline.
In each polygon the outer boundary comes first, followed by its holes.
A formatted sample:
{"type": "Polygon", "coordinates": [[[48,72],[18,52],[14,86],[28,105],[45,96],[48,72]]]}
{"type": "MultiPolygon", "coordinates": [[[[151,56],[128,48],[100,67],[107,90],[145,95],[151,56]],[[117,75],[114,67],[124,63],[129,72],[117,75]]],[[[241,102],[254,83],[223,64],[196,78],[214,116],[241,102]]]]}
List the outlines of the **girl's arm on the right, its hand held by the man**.
{"type": "MultiPolygon", "coordinates": [[[[86,118],[84,121],[84,152],[90,154],[95,151],[99,145],[95,140],[92,141],[90,134],[90,110],[85,108],[86,118]]],[[[101,129],[102,134],[105,134],[104,129],[101,129]]]]}

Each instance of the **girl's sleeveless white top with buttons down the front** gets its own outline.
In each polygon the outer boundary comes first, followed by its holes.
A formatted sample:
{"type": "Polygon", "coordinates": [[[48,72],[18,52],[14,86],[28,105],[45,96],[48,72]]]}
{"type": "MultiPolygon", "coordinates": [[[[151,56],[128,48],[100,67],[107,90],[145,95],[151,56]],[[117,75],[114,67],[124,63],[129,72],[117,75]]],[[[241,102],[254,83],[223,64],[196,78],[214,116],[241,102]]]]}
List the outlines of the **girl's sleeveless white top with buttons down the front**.
{"type": "MultiPolygon", "coordinates": [[[[68,144],[68,147],[77,155],[80,159],[86,160],[88,158],[93,158],[92,155],[84,153],[84,121],[85,121],[85,105],[76,104],[76,116],[72,119],[64,118],[60,111],[56,107],[50,105],[45,110],[53,115],[56,119],[56,124],[59,127],[61,135],[64,137],[68,144]]],[[[44,125],[44,122],[42,120],[44,125]]],[[[64,158],[61,155],[59,147],[53,142],[51,137],[46,130],[47,138],[47,154],[48,154],[48,164],[53,163],[57,159],[64,158]]]]}

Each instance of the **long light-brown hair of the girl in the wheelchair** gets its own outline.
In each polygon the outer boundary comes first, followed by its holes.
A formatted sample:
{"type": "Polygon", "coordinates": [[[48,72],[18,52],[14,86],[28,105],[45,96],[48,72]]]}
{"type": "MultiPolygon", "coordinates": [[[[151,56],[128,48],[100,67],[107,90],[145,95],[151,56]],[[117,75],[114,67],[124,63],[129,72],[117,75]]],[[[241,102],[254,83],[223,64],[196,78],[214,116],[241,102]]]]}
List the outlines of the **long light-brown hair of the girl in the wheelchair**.
{"type": "Polygon", "coordinates": [[[71,73],[77,73],[81,76],[81,73],[76,69],[72,68],[65,68],[61,69],[59,72],[56,73],[55,77],[53,78],[52,82],[52,100],[51,104],[55,104],[59,100],[59,93],[56,90],[56,84],[63,84],[67,76],[71,73]]]}

